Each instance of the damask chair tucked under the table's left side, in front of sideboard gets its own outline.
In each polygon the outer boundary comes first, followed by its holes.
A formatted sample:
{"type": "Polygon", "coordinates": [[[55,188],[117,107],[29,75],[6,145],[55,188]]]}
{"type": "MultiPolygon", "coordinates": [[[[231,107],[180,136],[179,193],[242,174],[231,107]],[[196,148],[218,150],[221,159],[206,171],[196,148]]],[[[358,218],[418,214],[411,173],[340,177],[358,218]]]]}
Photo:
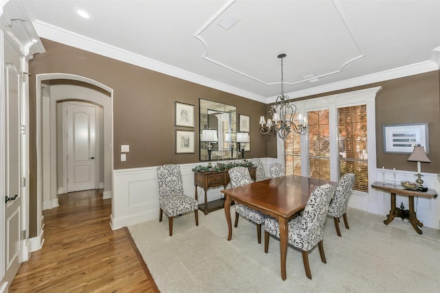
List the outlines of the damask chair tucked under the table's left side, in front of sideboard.
{"type": "MultiPolygon", "coordinates": [[[[253,182],[247,167],[233,167],[228,170],[228,174],[232,187],[239,187],[253,182]]],[[[256,223],[256,235],[258,242],[261,243],[261,224],[264,223],[265,215],[259,211],[250,209],[250,207],[246,207],[244,204],[235,204],[234,227],[239,225],[239,214],[256,223]]]]}

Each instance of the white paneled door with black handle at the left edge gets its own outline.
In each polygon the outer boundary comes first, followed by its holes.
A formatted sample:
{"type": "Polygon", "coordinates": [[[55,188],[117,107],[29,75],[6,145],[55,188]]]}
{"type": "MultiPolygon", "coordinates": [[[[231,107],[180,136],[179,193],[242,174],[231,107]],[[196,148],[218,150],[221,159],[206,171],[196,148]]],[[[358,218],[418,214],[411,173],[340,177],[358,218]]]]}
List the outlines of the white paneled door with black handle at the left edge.
{"type": "MultiPolygon", "coordinates": [[[[21,134],[20,134],[20,100],[21,100],[21,58],[7,40],[4,45],[4,84],[5,84],[5,277],[10,282],[20,268],[22,249],[21,231],[21,134]]],[[[2,203],[3,204],[3,203],[2,203]]],[[[2,221],[3,222],[3,221],[2,221]]]]}

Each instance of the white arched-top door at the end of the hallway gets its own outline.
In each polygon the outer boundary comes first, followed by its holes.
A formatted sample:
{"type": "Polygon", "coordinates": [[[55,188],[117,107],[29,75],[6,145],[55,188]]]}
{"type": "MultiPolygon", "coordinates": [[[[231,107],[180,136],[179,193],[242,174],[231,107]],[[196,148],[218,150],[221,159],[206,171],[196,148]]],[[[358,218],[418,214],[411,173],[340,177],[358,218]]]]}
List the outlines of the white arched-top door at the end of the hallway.
{"type": "Polygon", "coordinates": [[[86,103],[67,104],[67,191],[96,188],[95,109],[86,103]]]}

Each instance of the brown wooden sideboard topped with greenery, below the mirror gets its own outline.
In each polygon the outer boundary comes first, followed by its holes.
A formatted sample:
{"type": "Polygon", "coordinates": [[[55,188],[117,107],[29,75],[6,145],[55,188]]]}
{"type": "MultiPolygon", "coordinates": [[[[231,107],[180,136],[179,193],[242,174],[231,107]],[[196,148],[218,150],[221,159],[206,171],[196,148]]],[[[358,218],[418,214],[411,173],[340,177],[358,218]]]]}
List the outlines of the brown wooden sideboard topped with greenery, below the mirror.
{"type": "MultiPolygon", "coordinates": [[[[248,167],[250,176],[252,180],[256,179],[256,167],[248,167]]],[[[203,188],[205,191],[205,202],[203,204],[199,204],[199,210],[203,211],[205,215],[208,215],[210,211],[216,211],[217,209],[223,209],[224,207],[224,199],[220,198],[219,200],[213,200],[208,202],[208,196],[206,191],[210,187],[217,187],[223,185],[223,189],[229,183],[229,174],[228,170],[218,171],[218,172],[201,172],[194,171],[194,185],[195,185],[195,200],[199,200],[199,196],[197,194],[197,186],[203,188]]]]}

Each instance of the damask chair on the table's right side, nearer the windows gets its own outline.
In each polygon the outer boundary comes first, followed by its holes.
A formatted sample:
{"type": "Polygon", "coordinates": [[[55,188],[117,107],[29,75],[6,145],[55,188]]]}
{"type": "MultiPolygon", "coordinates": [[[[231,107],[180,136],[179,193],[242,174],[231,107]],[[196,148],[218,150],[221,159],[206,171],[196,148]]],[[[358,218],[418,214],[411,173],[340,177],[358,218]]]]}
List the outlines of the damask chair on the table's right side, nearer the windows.
{"type": "Polygon", "coordinates": [[[349,202],[349,196],[353,191],[355,185],[356,175],[353,173],[344,174],[336,187],[335,196],[330,202],[329,215],[335,220],[336,233],[341,237],[341,231],[339,229],[339,218],[342,215],[344,217],[345,228],[349,229],[349,221],[347,220],[347,203],[349,202]]]}

